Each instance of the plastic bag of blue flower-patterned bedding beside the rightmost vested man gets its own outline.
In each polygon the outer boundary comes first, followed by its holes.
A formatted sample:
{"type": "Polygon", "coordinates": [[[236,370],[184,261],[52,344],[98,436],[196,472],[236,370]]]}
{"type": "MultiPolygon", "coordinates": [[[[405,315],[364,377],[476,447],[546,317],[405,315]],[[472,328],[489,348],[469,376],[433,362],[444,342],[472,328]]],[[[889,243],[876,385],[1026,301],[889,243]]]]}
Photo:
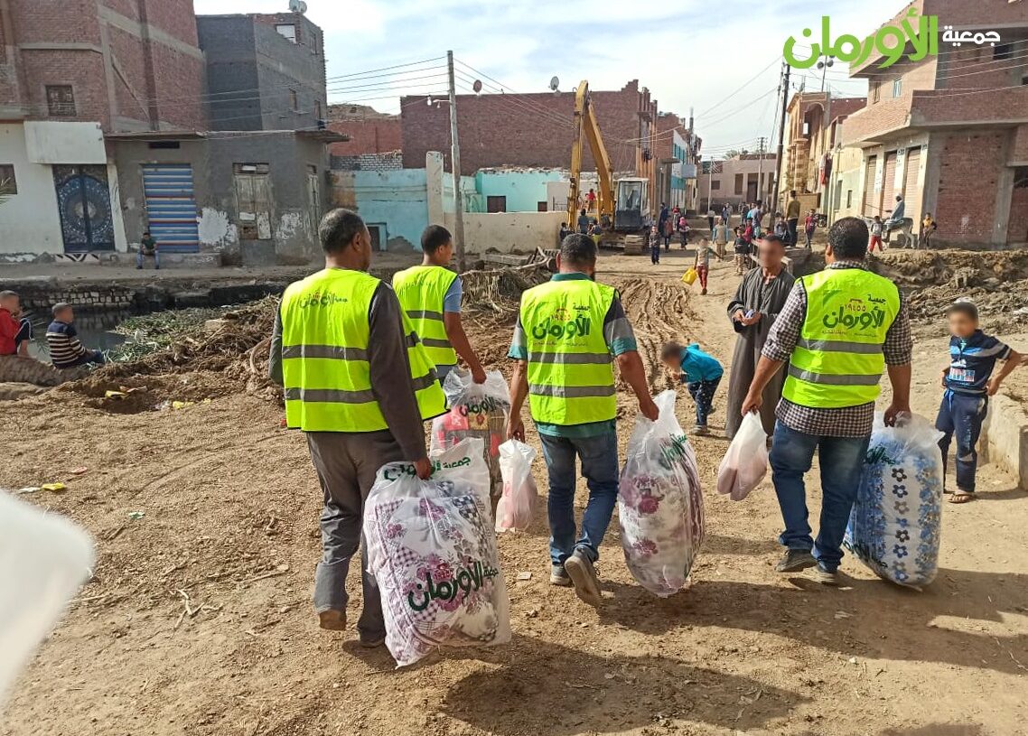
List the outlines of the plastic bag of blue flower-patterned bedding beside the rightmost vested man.
{"type": "Polygon", "coordinates": [[[875,429],[844,545],[897,585],[928,585],[939,572],[943,518],[943,434],[923,416],[875,429]]]}

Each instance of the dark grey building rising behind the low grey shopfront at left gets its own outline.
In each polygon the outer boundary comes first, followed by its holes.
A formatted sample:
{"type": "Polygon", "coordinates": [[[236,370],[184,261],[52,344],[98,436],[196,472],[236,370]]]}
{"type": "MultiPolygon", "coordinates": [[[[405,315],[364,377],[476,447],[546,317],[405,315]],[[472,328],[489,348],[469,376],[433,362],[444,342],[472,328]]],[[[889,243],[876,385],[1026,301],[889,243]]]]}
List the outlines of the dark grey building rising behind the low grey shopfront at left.
{"type": "Polygon", "coordinates": [[[211,128],[299,131],[324,124],[325,45],[298,12],[197,15],[211,128]]]}

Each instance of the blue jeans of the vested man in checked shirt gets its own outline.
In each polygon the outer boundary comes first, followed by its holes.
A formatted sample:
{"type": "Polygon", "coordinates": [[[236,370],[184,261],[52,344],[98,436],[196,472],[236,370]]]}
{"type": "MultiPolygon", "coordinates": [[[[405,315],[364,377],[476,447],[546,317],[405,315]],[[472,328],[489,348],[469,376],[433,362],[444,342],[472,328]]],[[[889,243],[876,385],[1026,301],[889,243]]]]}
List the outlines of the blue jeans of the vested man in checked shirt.
{"type": "Polygon", "coordinates": [[[778,541],[788,549],[812,550],[820,566],[835,572],[842,560],[842,539],[860,484],[860,469],[871,437],[817,437],[775,424],[771,445],[774,490],[785,530],[778,541]],[[810,538],[803,476],[818,450],[821,462],[821,519],[817,540],[810,538]]]}

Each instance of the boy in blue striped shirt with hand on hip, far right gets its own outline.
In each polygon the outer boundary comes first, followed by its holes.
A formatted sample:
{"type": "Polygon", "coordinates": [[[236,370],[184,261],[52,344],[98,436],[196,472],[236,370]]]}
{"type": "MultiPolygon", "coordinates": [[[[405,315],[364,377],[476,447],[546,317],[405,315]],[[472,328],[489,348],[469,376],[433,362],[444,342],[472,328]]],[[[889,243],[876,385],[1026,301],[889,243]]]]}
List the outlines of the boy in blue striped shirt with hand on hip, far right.
{"type": "Polygon", "coordinates": [[[999,384],[1011,371],[1021,365],[1023,356],[1012,351],[978,326],[978,307],[972,301],[954,302],[947,315],[950,321],[950,365],[943,371],[943,402],[939,407],[935,429],[943,433],[939,447],[943,464],[947,463],[950,443],[957,441],[957,489],[950,496],[952,504],[965,504],[975,499],[975,473],[978,470],[979,435],[989,410],[989,397],[999,391],[999,384]],[[1005,361],[996,375],[996,361],[1005,361]]]}

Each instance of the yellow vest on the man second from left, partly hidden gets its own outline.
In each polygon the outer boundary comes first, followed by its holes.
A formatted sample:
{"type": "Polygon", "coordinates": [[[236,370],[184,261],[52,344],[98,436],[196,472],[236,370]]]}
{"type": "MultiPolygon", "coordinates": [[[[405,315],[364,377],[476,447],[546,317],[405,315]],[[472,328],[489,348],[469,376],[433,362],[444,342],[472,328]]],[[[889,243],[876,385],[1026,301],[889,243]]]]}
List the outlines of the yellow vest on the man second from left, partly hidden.
{"type": "Polygon", "coordinates": [[[456,351],[446,336],[443,302],[456,273],[442,266],[413,266],[393,277],[393,289],[429,358],[437,366],[456,365],[456,351]]]}

